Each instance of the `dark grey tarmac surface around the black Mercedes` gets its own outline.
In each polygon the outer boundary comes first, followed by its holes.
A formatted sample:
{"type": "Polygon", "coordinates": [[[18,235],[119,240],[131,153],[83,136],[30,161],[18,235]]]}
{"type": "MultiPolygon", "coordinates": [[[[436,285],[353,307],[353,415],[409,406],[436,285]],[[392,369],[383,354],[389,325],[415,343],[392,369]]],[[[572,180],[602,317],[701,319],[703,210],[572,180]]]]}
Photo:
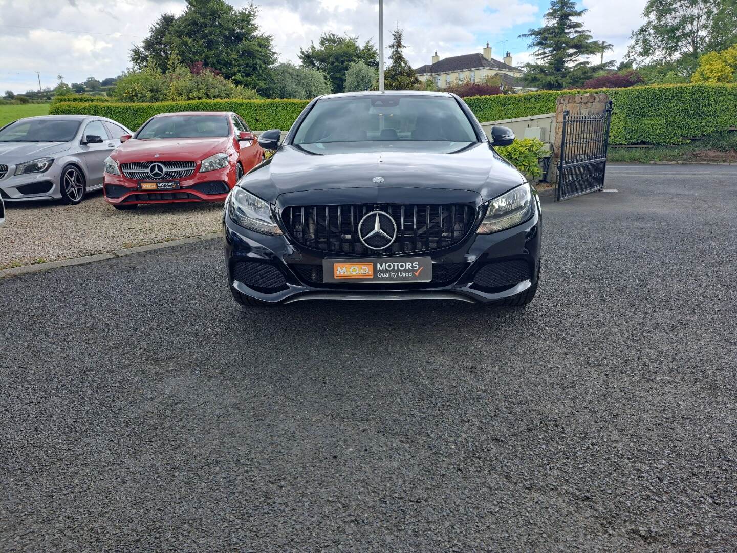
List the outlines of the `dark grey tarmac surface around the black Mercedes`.
{"type": "Polygon", "coordinates": [[[733,551],[737,167],[606,188],[525,308],[244,310],[218,240],[0,279],[0,549],[733,551]]]}

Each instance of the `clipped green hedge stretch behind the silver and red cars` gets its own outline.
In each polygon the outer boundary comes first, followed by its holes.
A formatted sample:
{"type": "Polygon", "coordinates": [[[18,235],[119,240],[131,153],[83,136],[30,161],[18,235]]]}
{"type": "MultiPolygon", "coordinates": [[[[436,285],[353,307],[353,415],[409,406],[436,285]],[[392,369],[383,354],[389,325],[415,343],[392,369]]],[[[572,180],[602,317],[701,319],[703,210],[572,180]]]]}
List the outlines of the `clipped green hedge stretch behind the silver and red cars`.
{"type": "Polygon", "coordinates": [[[309,100],[187,100],[161,103],[75,103],[52,105],[49,114],[81,114],[109,117],[134,131],[149,117],[172,111],[234,111],[254,131],[280,128],[287,131],[309,100]]]}

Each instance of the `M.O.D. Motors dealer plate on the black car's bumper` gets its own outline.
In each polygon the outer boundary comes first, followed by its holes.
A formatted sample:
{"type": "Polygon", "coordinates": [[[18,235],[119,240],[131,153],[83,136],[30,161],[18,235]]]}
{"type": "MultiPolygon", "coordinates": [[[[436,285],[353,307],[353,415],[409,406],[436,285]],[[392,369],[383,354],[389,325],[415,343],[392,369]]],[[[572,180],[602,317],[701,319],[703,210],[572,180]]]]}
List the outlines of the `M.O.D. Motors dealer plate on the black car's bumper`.
{"type": "Polygon", "coordinates": [[[323,282],[430,282],[431,257],[323,260],[323,282]]]}

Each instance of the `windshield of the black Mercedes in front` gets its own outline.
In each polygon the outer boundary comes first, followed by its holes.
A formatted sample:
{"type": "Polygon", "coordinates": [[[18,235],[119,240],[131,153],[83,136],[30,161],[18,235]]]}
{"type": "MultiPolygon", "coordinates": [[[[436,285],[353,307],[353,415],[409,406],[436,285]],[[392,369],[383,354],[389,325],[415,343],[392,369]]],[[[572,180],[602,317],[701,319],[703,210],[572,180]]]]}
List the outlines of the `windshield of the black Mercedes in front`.
{"type": "Polygon", "coordinates": [[[383,94],[318,100],[297,129],[293,144],[405,141],[478,139],[453,97],[383,94]]]}

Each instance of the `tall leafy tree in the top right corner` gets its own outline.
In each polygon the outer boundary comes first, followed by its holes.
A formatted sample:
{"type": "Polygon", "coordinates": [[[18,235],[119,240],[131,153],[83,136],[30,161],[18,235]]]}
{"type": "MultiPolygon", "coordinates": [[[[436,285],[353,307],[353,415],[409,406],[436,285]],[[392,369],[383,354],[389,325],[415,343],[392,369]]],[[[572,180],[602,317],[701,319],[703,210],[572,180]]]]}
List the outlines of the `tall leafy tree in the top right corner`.
{"type": "Polygon", "coordinates": [[[735,0],[648,0],[642,17],[627,49],[627,59],[641,63],[682,59],[693,71],[709,49],[737,42],[735,0]]]}

